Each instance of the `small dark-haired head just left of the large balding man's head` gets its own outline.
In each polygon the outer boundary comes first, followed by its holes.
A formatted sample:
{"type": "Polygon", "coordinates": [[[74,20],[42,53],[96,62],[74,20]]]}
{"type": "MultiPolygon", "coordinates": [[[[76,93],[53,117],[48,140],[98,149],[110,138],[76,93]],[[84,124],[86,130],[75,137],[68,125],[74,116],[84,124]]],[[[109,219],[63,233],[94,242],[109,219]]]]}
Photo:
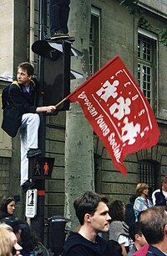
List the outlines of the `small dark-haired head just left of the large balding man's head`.
{"type": "Polygon", "coordinates": [[[144,238],[144,234],[141,231],[140,222],[134,222],[133,224],[130,225],[129,237],[133,240],[137,249],[143,247],[147,243],[147,241],[144,238]]]}

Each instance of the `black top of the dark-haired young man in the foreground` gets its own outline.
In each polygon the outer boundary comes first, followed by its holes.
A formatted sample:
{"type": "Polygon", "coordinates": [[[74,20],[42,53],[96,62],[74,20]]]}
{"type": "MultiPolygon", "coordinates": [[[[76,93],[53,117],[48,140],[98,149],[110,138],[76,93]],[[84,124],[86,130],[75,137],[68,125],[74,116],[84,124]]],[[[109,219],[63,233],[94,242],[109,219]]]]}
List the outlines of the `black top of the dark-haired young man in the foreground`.
{"type": "Polygon", "coordinates": [[[67,256],[119,256],[114,247],[110,246],[108,241],[97,236],[96,243],[83,238],[78,232],[71,232],[63,246],[64,253],[67,256]]]}

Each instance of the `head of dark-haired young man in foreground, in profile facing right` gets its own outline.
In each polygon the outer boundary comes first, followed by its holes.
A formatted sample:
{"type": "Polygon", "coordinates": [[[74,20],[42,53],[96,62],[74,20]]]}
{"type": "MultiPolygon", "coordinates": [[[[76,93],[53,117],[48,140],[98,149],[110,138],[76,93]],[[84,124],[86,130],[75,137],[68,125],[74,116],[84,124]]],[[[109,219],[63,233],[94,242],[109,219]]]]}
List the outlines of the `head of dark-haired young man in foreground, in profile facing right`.
{"type": "Polygon", "coordinates": [[[81,226],[89,225],[95,232],[107,232],[109,230],[109,207],[105,196],[93,191],[87,191],[78,196],[73,206],[81,226]]]}

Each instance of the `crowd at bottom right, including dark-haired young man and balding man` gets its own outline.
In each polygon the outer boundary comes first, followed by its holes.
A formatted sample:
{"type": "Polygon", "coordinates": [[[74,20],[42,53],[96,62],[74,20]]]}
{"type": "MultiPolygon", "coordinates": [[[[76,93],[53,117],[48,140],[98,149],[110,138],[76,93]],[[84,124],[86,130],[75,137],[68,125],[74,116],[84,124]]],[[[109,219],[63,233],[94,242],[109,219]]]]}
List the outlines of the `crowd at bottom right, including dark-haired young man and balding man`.
{"type": "MultiPolygon", "coordinates": [[[[162,179],[162,185],[164,182],[167,183],[167,177],[162,179]]],[[[158,205],[155,203],[154,206],[152,200],[147,198],[147,184],[139,183],[136,191],[134,205],[130,198],[130,212],[132,213],[133,208],[134,222],[129,225],[125,222],[126,209],[123,201],[115,200],[109,204],[106,197],[93,191],[78,196],[73,206],[81,226],[78,232],[69,235],[60,255],[167,255],[167,198],[165,205],[159,206],[157,201],[158,205]],[[109,240],[101,238],[101,232],[109,232],[109,240]],[[132,248],[129,247],[129,238],[133,241],[132,248]]],[[[162,193],[163,191],[165,192],[164,186],[162,193]]]]}

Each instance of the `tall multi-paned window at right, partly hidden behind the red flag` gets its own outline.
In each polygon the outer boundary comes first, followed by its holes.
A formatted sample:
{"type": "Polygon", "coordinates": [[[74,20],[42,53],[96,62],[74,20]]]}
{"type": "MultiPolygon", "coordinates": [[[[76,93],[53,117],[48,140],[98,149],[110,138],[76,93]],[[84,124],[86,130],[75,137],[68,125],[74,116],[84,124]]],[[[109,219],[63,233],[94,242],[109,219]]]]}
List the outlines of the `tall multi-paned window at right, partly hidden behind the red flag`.
{"type": "Polygon", "coordinates": [[[138,84],[155,111],[157,86],[157,38],[139,29],[138,35],[138,84]]]}

